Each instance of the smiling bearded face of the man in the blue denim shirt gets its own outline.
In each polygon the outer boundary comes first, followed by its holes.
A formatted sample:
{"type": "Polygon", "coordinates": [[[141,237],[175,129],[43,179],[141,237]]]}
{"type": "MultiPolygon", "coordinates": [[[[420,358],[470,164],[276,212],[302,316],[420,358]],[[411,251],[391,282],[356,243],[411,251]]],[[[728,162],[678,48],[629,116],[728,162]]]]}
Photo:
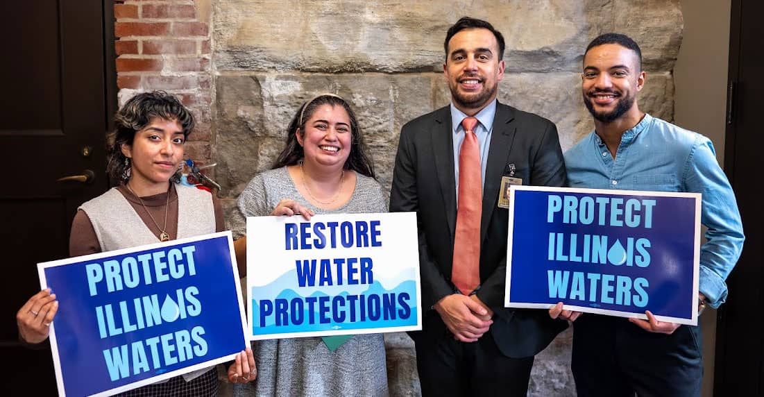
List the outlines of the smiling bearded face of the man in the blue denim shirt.
{"type": "Polygon", "coordinates": [[[636,93],[645,83],[639,57],[619,44],[603,44],[584,55],[581,91],[584,105],[595,120],[611,123],[625,115],[639,114],[636,93]]]}

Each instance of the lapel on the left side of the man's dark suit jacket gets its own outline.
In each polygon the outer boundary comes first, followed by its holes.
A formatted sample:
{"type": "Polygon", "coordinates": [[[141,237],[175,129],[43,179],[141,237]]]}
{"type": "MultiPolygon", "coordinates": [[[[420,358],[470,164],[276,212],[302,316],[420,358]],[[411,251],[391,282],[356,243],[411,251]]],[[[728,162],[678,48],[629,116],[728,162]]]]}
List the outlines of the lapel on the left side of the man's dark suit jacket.
{"type": "MultiPolygon", "coordinates": [[[[435,157],[435,173],[438,174],[440,191],[445,205],[445,218],[450,235],[456,229],[456,182],[454,180],[454,140],[451,131],[451,110],[446,106],[435,114],[432,126],[432,153],[435,157]]],[[[427,205],[427,203],[419,203],[427,205]]]]}

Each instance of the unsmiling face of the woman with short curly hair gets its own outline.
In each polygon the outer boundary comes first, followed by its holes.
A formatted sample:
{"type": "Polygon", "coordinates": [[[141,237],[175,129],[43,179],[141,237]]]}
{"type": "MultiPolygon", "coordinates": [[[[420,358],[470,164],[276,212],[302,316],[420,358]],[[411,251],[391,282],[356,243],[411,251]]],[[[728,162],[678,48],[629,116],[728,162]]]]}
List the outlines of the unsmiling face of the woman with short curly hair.
{"type": "Polygon", "coordinates": [[[121,147],[125,157],[131,160],[131,189],[149,194],[167,191],[170,177],[183,160],[185,142],[183,128],[175,120],[153,118],[137,131],[133,143],[121,147]]]}

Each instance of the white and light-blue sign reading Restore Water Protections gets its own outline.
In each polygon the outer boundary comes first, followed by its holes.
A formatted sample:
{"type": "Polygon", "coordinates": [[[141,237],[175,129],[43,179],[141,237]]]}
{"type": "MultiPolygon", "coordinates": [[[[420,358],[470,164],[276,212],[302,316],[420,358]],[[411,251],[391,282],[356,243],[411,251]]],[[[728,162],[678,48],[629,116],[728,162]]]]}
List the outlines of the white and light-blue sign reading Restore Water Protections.
{"type": "Polygon", "coordinates": [[[416,214],[247,218],[251,338],[422,329],[416,214]]]}

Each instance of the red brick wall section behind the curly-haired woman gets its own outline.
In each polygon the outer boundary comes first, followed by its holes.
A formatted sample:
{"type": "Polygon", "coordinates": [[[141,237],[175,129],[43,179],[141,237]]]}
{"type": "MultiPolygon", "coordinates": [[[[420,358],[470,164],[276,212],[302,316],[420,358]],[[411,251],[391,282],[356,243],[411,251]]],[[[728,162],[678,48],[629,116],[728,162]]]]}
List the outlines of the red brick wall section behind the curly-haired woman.
{"type": "Polygon", "coordinates": [[[198,121],[186,157],[211,159],[209,0],[118,0],[114,5],[120,105],[135,92],[177,95],[198,121]]]}

